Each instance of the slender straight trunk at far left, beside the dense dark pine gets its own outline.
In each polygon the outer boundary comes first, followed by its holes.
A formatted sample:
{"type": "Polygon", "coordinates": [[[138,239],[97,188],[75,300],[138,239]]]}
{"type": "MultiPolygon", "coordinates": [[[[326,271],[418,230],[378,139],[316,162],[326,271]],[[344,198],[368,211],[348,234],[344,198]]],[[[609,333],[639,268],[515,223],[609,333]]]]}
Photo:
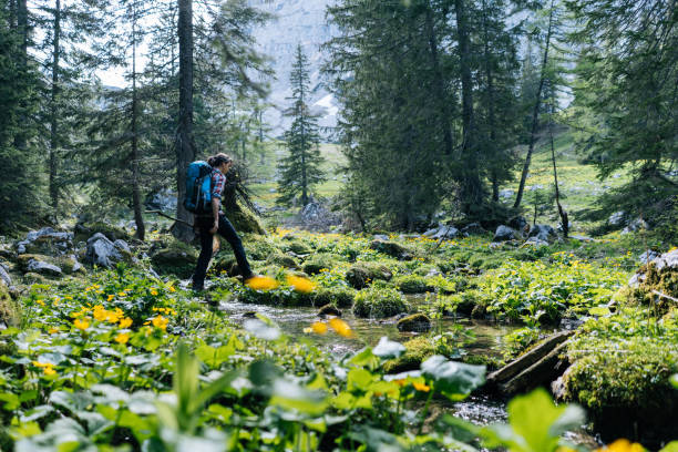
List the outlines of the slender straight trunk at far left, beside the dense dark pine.
{"type": "Polygon", "coordinates": [[[54,1],[54,37],[52,40],[52,92],[50,105],[50,199],[52,208],[59,206],[59,189],[56,187],[56,152],[59,147],[59,107],[56,97],[59,95],[59,64],[61,58],[61,0],[54,1]]]}

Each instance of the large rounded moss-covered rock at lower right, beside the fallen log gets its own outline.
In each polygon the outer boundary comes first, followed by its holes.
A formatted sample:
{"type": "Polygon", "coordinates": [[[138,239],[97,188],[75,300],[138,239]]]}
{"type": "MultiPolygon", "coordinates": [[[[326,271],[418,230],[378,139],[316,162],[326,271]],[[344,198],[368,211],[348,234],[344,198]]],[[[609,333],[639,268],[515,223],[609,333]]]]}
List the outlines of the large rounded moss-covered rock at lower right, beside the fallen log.
{"type": "Polygon", "coordinates": [[[565,399],[586,409],[606,441],[677,438],[678,391],[669,382],[678,372],[675,349],[643,341],[620,351],[594,352],[575,361],[563,377],[565,399]]]}

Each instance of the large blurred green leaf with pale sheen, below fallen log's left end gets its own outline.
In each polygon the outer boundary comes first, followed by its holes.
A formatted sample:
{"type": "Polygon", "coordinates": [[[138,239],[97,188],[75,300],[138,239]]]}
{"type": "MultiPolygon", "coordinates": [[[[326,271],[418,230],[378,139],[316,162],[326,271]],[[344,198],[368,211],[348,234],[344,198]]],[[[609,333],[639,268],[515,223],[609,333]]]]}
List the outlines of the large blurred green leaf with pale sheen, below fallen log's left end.
{"type": "Polygon", "coordinates": [[[434,381],[435,390],[452,401],[465,399],[485,382],[485,367],[449,361],[440,355],[421,363],[424,377],[434,381]]]}

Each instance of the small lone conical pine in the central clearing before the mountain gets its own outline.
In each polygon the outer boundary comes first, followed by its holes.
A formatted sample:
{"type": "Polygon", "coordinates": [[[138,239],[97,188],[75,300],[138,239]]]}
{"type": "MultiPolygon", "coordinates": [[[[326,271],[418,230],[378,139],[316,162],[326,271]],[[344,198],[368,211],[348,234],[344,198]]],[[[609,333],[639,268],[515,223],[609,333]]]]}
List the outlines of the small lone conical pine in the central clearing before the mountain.
{"type": "Polygon", "coordinates": [[[292,89],[294,105],[288,113],[292,123],[285,132],[285,143],[289,155],[282,160],[281,177],[278,181],[278,203],[291,204],[299,196],[301,205],[306,206],[314,187],[325,179],[320,165],[320,134],[318,121],[308,107],[309,83],[308,58],[304,54],[301,44],[297,45],[297,54],[289,78],[292,89]]]}

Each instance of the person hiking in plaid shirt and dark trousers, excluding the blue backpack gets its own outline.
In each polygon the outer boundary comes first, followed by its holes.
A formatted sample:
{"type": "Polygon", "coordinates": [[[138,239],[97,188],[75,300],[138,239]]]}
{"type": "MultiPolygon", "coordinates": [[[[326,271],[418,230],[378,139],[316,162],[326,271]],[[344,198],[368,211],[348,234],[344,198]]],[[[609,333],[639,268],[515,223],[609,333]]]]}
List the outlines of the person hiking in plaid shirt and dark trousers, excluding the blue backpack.
{"type": "Polygon", "coordinates": [[[243,275],[243,282],[254,277],[249,263],[245,256],[245,248],[243,248],[243,242],[235,228],[226,218],[222,208],[222,192],[226,185],[226,173],[233,165],[233,160],[224,154],[219,153],[207,158],[207,163],[212,167],[210,174],[210,191],[212,191],[212,214],[203,214],[194,216],[194,228],[201,237],[201,255],[195,267],[195,274],[193,275],[193,290],[203,290],[205,286],[205,274],[207,273],[207,266],[209,259],[212,259],[212,244],[215,234],[224,237],[233,248],[240,275],[243,275]]]}

